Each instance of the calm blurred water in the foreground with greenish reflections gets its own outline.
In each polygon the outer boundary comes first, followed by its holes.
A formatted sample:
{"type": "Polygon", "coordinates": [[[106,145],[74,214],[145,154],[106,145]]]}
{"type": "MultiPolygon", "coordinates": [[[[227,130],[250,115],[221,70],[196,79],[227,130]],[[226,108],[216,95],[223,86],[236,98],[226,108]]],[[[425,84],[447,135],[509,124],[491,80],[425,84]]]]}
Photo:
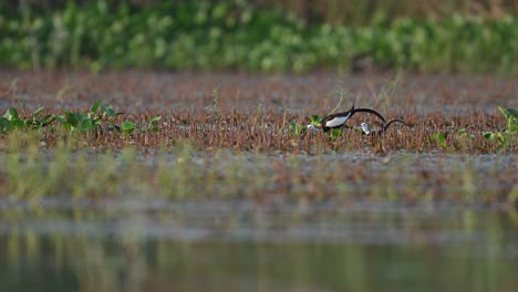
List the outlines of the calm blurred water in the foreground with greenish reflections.
{"type": "Polygon", "coordinates": [[[0,286],[516,291],[517,231],[515,211],[447,202],[4,199],[0,286]]]}

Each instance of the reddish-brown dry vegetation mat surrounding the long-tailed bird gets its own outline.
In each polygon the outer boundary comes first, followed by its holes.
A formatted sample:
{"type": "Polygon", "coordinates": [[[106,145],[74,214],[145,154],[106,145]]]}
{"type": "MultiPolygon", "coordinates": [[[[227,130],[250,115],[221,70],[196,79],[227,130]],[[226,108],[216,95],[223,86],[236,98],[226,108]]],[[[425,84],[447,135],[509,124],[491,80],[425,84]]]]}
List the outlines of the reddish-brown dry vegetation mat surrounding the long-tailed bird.
{"type": "MultiPolygon", "coordinates": [[[[372,149],[385,153],[496,153],[501,147],[484,132],[499,132],[505,119],[497,106],[518,107],[518,85],[510,80],[452,75],[268,75],[168,72],[13,72],[0,71],[0,111],[15,107],[28,116],[40,106],[45,113],[87,108],[97,100],[124,112],[118,123],[144,123],[160,115],[157,133],[124,135],[105,131],[80,137],[87,146],[159,147],[188,140],[201,150],[322,153],[372,149]],[[351,104],[370,107],[387,119],[403,118],[381,138],[346,131],[344,137],[323,133],[293,135],[292,122],[309,124],[310,114],[325,115],[346,92],[341,109],[351,104]],[[455,135],[459,129],[466,135],[455,135]],[[432,136],[443,133],[441,146],[432,136]]],[[[380,126],[369,115],[348,122],[380,126]]],[[[2,139],[6,139],[3,137],[2,139]]],[[[53,145],[55,133],[42,139],[53,145]]],[[[518,153],[516,139],[506,150],[518,153]]]]}

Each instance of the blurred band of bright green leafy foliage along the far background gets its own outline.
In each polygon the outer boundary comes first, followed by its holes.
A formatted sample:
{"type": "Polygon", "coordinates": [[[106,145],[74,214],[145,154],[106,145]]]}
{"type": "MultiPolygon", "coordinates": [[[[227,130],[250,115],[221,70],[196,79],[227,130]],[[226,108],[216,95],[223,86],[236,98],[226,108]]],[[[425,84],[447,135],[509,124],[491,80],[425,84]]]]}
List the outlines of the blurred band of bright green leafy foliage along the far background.
{"type": "Polygon", "coordinates": [[[510,14],[379,18],[345,27],[308,24],[245,1],[0,9],[0,65],[11,67],[307,72],[350,67],[355,56],[369,55],[390,69],[518,72],[518,25],[510,14]]]}

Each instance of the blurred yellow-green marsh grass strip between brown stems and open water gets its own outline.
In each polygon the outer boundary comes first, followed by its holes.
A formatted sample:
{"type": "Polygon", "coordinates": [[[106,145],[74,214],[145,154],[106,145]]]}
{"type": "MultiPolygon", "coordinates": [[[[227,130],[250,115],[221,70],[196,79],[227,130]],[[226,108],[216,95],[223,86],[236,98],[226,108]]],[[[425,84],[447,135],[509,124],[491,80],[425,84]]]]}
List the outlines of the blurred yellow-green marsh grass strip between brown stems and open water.
{"type": "Polygon", "coordinates": [[[160,147],[153,154],[136,147],[93,154],[62,143],[52,149],[32,144],[2,156],[0,189],[3,198],[37,205],[48,196],[91,199],[94,205],[108,197],[152,196],[258,201],[450,200],[512,206],[518,184],[512,158],[490,159],[489,165],[472,160],[450,154],[203,152],[189,142],[160,147]]]}

